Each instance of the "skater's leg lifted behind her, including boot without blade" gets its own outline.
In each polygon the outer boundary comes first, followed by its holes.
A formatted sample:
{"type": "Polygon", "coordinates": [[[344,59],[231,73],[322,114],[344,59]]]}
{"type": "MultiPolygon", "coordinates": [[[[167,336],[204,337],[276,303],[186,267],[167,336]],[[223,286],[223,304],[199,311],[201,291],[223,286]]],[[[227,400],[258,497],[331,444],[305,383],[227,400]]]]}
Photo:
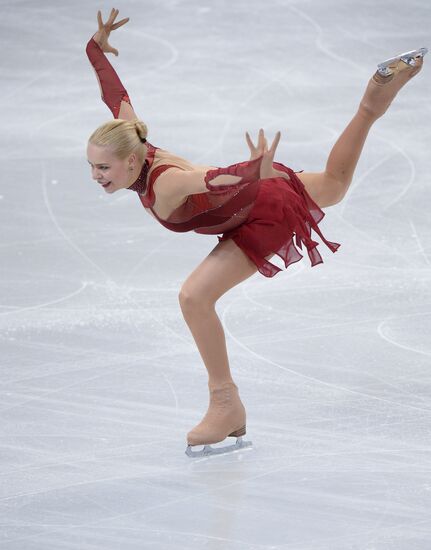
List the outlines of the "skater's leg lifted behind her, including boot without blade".
{"type": "Polygon", "coordinates": [[[414,67],[406,66],[398,74],[373,75],[358,111],[333,146],[325,171],[298,174],[318,206],[332,206],[345,196],[371,126],[387,111],[399,90],[421,70],[422,64],[423,58],[420,58],[414,67]]]}

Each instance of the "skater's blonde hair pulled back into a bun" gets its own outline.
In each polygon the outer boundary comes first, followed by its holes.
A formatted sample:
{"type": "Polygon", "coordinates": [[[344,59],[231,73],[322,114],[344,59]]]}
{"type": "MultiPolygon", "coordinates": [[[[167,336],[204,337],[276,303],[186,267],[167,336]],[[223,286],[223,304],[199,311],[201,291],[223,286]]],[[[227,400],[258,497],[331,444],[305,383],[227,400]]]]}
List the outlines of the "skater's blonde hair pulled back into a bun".
{"type": "Polygon", "coordinates": [[[102,124],[89,137],[88,142],[100,147],[110,147],[113,154],[121,160],[136,153],[138,160],[144,162],[148,135],[147,125],[142,120],[123,120],[117,118],[102,124]]]}

